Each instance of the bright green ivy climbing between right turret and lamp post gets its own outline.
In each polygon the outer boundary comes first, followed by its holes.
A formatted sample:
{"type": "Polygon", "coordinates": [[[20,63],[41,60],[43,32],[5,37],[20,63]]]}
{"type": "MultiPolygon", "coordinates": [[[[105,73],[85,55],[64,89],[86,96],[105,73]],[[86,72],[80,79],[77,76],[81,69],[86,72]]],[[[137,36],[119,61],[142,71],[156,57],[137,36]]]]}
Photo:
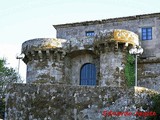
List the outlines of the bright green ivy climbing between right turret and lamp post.
{"type": "Polygon", "coordinates": [[[129,87],[134,86],[134,82],[135,82],[134,61],[135,61],[134,56],[128,53],[124,73],[125,73],[127,86],[129,87]]]}

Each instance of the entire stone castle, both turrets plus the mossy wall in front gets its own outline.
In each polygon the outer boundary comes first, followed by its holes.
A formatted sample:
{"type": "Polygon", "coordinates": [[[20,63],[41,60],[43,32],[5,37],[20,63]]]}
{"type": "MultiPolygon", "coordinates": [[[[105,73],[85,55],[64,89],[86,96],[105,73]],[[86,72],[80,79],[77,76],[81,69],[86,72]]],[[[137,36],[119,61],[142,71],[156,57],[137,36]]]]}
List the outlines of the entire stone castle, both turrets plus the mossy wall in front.
{"type": "Polygon", "coordinates": [[[9,86],[5,119],[131,120],[139,118],[137,110],[149,109],[160,91],[160,13],[53,27],[57,38],[22,44],[27,83],[9,86]],[[141,87],[127,88],[128,51],[140,46],[141,87]],[[103,111],[131,114],[104,116],[103,111]]]}

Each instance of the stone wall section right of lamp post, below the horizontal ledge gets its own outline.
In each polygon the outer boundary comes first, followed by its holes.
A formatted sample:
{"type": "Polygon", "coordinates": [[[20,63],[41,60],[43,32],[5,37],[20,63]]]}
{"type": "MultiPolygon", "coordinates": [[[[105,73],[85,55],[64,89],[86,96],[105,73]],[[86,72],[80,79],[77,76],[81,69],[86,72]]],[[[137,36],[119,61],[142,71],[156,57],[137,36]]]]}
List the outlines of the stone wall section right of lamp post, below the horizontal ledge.
{"type": "Polygon", "coordinates": [[[160,91],[160,60],[139,61],[138,85],[160,91]]]}

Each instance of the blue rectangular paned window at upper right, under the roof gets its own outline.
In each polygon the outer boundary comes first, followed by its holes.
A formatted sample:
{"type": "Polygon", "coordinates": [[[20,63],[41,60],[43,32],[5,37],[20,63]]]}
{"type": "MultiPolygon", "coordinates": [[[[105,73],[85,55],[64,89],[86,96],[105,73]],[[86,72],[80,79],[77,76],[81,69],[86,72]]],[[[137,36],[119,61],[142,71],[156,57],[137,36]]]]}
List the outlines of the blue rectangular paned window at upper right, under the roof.
{"type": "Polygon", "coordinates": [[[152,40],[152,28],[142,28],[142,40],[152,40]]]}

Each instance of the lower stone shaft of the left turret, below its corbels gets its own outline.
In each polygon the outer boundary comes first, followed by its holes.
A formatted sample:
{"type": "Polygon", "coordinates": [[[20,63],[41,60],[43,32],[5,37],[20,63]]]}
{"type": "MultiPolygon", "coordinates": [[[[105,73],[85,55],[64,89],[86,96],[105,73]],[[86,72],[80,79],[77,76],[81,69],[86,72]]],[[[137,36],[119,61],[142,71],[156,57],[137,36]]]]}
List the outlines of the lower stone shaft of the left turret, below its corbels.
{"type": "Polygon", "coordinates": [[[27,63],[28,83],[63,83],[63,75],[63,61],[41,59],[27,63]]]}

